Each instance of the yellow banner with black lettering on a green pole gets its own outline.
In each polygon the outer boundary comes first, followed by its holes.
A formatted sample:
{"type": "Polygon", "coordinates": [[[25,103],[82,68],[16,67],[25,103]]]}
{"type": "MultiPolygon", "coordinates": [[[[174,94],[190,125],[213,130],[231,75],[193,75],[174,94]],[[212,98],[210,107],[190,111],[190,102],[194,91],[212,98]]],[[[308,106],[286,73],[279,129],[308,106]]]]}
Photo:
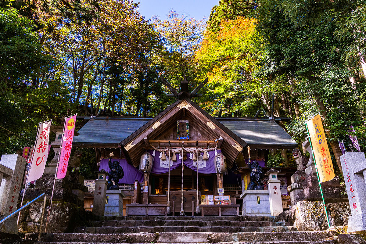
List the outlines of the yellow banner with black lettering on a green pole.
{"type": "Polygon", "coordinates": [[[309,129],[320,182],[332,180],[335,177],[334,168],[320,115],[306,121],[306,124],[309,129]]]}

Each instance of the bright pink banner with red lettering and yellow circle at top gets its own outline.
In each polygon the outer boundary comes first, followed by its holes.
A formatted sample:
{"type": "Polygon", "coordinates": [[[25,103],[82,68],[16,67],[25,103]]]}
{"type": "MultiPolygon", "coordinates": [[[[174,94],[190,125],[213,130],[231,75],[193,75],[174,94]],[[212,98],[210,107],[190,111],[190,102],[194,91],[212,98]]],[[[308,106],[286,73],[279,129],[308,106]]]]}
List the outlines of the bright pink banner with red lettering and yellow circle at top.
{"type": "Polygon", "coordinates": [[[72,139],[74,138],[76,114],[66,118],[64,135],[62,138],[62,147],[59,157],[59,167],[57,169],[57,179],[63,179],[66,176],[67,164],[70,159],[72,139]]]}

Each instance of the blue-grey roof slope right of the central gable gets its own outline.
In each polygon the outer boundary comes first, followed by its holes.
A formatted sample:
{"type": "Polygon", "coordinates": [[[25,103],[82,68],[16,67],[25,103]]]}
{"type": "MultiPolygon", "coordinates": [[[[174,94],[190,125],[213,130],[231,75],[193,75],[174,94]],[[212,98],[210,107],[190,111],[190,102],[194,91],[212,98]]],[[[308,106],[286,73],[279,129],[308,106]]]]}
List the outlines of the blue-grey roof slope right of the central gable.
{"type": "MultiPolygon", "coordinates": [[[[248,144],[296,144],[275,121],[218,119],[248,144]]],[[[294,145],[295,146],[295,145],[294,145]]]]}

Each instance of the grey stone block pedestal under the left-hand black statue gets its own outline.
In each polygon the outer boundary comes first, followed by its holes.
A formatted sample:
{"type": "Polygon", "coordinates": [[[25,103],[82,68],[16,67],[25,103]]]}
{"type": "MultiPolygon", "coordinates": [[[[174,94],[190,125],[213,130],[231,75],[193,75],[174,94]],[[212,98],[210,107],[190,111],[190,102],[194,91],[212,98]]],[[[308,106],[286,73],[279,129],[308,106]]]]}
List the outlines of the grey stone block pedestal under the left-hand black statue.
{"type": "Polygon", "coordinates": [[[123,216],[123,194],[122,190],[107,190],[107,198],[104,207],[104,216],[123,216]]]}

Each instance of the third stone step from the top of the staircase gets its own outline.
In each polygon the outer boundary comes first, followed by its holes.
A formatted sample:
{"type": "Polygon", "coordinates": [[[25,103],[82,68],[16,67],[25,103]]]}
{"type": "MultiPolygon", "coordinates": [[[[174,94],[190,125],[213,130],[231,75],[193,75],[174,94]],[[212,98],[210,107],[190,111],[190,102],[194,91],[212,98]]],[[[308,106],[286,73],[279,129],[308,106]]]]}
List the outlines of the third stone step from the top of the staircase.
{"type": "Polygon", "coordinates": [[[286,232],[296,231],[294,226],[101,226],[79,227],[75,233],[111,234],[111,233],[155,233],[155,232],[286,232]]]}

